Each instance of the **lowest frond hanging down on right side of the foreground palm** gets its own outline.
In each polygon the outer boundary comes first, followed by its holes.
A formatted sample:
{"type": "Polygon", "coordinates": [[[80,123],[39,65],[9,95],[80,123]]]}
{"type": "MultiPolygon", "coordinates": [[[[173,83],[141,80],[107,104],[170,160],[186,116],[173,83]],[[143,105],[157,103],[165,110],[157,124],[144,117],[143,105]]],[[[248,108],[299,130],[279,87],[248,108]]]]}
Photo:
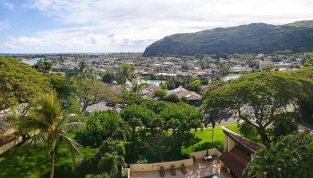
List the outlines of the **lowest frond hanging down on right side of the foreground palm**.
{"type": "Polygon", "coordinates": [[[72,168],[74,169],[76,166],[79,166],[83,160],[83,154],[80,151],[81,145],[64,134],[60,134],[60,139],[71,150],[72,168]]]}

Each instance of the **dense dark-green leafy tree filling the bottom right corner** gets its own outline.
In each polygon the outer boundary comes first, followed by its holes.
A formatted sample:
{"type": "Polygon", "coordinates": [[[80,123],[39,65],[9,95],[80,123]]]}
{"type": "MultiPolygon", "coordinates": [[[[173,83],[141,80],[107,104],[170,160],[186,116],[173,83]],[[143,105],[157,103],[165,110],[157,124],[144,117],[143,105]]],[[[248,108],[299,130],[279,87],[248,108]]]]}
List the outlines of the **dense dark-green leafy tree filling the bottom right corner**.
{"type": "Polygon", "coordinates": [[[249,177],[313,176],[313,136],[290,134],[270,149],[259,150],[248,168],[249,177]]]}

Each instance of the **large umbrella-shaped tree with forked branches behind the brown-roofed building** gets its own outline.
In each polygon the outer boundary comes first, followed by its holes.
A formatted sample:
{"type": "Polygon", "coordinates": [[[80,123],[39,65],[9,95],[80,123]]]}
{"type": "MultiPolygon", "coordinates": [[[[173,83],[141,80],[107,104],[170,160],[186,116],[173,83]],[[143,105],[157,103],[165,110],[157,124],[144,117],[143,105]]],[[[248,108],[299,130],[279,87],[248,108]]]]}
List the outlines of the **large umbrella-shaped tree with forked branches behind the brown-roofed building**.
{"type": "Polygon", "coordinates": [[[269,146],[266,127],[275,121],[276,114],[285,111],[287,104],[295,101],[301,91],[300,82],[291,73],[250,73],[209,93],[204,108],[215,112],[233,110],[240,119],[253,125],[262,142],[269,146]]]}

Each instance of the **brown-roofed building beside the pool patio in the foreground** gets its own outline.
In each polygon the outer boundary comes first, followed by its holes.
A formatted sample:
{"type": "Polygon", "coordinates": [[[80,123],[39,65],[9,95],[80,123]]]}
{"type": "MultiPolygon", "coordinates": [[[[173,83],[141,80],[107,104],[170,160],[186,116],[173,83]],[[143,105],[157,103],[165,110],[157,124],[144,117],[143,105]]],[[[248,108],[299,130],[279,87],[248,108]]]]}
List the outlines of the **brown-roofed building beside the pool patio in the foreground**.
{"type": "Polygon", "coordinates": [[[225,128],[224,132],[224,152],[220,156],[224,168],[235,178],[245,178],[246,167],[252,160],[253,155],[264,145],[252,142],[239,134],[225,128]]]}

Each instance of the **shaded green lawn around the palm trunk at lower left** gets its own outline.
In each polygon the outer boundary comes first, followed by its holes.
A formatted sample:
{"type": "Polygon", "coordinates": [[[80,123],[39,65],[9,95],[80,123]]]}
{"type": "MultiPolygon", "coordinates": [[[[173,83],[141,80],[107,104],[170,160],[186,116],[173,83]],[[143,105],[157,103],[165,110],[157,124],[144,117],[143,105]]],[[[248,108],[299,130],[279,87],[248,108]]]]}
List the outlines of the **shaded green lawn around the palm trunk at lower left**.
{"type": "MultiPolygon", "coordinates": [[[[49,157],[48,147],[32,147],[21,150],[10,150],[0,156],[0,177],[5,178],[38,178],[48,177],[49,157]]],[[[84,149],[85,160],[97,153],[94,149],[84,149]]],[[[55,158],[55,177],[69,177],[73,175],[71,159],[66,147],[57,149],[55,158]]]]}

